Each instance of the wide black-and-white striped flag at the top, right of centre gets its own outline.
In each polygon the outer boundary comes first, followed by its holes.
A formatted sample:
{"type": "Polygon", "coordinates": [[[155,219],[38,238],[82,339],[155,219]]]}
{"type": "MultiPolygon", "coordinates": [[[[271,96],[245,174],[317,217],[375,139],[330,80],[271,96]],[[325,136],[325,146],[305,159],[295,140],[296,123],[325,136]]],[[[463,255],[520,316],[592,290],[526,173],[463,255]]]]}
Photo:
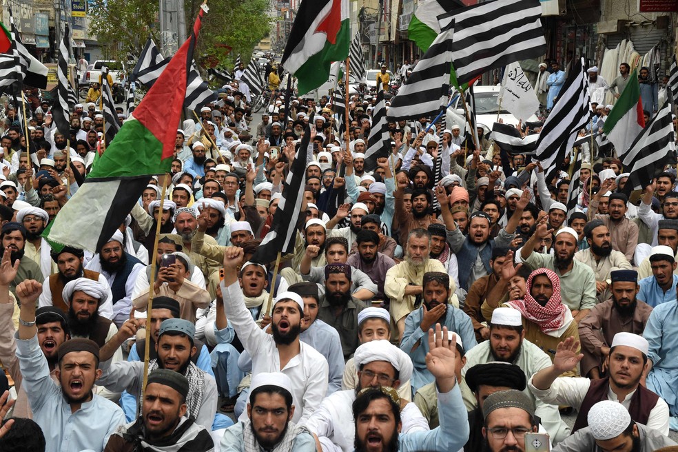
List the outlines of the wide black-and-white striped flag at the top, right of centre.
{"type": "Polygon", "coordinates": [[[438,16],[454,24],[452,63],[458,83],[491,69],[546,53],[539,0],[495,0],[438,16]]]}

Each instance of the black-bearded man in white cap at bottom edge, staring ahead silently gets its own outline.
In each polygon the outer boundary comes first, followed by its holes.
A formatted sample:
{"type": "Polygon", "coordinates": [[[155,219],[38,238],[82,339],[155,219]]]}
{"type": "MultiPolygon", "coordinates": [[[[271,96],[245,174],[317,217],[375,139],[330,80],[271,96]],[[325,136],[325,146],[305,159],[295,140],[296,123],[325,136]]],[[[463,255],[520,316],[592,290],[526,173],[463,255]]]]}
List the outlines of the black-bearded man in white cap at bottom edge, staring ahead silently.
{"type": "Polygon", "coordinates": [[[224,452],[314,452],[316,441],[294,422],[293,383],[280,372],[252,377],[247,418],[229,427],[221,440],[224,452]]]}

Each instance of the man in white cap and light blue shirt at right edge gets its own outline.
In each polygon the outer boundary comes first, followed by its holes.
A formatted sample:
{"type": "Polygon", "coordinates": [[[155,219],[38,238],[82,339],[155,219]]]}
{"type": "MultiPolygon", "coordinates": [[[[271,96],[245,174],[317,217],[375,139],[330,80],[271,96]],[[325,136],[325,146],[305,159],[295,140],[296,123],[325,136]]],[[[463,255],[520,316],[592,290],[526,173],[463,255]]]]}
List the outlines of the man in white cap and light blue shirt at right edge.
{"type": "Polygon", "coordinates": [[[653,247],[649,260],[653,276],[639,280],[637,298],[651,307],[675,300],[678,275],[673,272],[678,264],[673,250],[666,245],[657,245],[653,247]]]}

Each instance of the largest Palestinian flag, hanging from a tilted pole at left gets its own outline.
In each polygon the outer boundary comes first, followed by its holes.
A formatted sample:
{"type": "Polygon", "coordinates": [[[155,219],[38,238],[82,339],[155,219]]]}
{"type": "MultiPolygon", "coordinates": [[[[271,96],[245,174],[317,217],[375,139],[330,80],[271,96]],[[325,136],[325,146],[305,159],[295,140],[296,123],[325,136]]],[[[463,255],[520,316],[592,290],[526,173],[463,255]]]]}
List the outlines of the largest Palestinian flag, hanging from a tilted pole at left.
{"type": "Polygon", "coordinates": [[[187,73],[205,10],[199,10],[192,36],[125,121],[85,183],[43,232],[52,248],[69,245],[96,252],[131,212],[151,176],[170,171],[187,73]]]}

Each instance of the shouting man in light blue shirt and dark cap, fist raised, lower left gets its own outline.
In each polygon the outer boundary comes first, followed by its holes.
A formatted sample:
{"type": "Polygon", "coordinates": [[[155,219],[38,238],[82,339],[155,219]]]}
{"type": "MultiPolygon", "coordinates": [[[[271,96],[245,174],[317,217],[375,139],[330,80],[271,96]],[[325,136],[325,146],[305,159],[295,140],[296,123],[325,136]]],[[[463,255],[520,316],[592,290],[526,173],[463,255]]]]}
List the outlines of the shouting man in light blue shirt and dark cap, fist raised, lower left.
{"type": "Polygon", "coordinates": [[[17,286],[21,302],[17,357],[33,420],[45,434],[47,451],[101,452],[108,437],[125,422],[125,415],[116,404],[92,393],[94,382],[101,376],[99,345],[83,338],[61,344],[54,371],[59,387],[50,376],[48,360],[38,343],[35,305],[41,291],[42,285],[36,280],[25,280],[17,286]]]}

